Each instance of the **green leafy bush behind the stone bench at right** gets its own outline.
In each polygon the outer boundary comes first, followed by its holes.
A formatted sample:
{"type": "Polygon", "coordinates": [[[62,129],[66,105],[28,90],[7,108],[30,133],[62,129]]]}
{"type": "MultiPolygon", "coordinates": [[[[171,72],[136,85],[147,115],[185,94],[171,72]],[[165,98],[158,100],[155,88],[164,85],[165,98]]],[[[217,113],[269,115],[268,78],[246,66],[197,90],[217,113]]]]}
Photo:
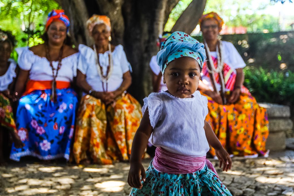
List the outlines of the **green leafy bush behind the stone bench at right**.
{"type": "Polygon", "coordinates": [[[244,85],[258,102],[294,106],[293,72],[246,67],[244,74],[244,85]]]}

